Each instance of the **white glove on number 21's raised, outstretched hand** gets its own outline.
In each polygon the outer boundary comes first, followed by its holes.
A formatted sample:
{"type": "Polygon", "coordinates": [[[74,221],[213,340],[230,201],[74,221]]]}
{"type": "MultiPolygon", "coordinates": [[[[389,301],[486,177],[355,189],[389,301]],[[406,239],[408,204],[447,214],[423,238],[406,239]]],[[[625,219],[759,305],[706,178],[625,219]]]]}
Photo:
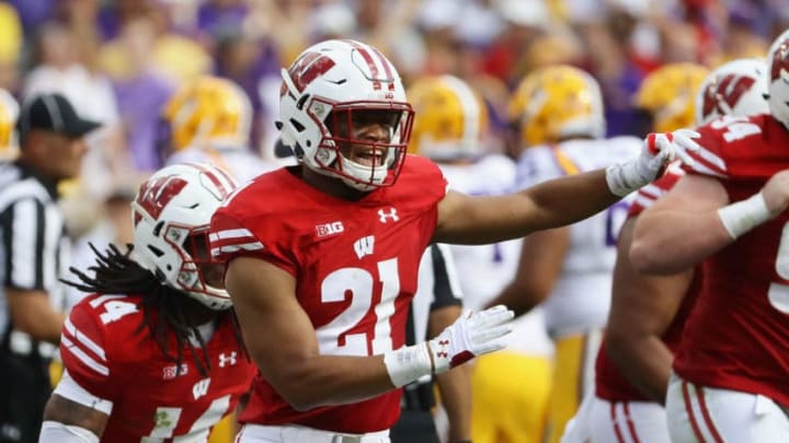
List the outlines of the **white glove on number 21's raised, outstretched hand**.
{"type": "Polygon", "coordinates": [[[650,133],[644,139],[643,149],[638,158],[606,168],[608,188],[614,195],[625,197],[654,180],[666,164],[675,159],[691,165],[694,160],[688,152],[698,152],[701,149],[694,140],[698,137],[700,135],[690,129],[650,133]]]}

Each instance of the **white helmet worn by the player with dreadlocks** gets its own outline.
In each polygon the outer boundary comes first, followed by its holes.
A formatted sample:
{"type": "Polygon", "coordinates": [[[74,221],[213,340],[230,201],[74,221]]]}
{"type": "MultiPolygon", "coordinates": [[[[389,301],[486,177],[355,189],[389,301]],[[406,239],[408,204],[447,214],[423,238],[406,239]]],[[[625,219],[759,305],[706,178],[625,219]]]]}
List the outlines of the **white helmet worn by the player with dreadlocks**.
{"type": "Polygon", "coordinates": [[[211,261],[210,218],[236,186],[211,164],[174,164],[151,175],[132,202],[134,258],[211,310],[230,307],[230,295],[206,282],[201,265],[211,261]]]}

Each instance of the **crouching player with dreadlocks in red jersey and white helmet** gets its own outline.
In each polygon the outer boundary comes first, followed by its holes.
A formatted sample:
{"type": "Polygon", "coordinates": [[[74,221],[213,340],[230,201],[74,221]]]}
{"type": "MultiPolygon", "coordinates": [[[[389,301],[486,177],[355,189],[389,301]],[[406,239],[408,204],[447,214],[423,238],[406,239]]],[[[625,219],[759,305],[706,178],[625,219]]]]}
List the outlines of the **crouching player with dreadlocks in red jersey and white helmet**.
{"type": "Polygon", "coordinates": [[[235,186],[208,164],[160,170],[132,203],[130,252],[111,245],[73,270],[93,294],[64,326],[41,442],[205,442],[249,392],[254,364],[207,238],[235,186]]]}

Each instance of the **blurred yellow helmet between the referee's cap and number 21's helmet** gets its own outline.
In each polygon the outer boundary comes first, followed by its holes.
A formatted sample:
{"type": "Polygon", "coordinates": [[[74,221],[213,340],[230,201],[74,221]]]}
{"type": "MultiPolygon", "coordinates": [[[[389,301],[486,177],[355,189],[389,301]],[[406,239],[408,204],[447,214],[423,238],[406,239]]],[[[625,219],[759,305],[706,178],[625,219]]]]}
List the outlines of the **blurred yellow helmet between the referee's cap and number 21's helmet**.
{"type": "Polygon", "coordinates": [[[162,110],[170,151],[191,145],[247,147],[252,105],[230,80],[204,75],[179,88],[162,110]]]}

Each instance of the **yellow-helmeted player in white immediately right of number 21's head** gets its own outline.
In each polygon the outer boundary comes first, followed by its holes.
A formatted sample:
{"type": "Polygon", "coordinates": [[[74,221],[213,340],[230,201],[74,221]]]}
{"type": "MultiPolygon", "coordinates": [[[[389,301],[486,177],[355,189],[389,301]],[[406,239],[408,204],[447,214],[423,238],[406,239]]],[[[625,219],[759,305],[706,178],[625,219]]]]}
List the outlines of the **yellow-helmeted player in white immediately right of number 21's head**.
{"type": "MultiPolygon", "coordinates": [[[[515,163],[485,153],[488,114],[467,83],[450,75],[419,79],[407,91],[415,110],[410,148],[438,163],[449,187],[500,195],[515,184],[515,163]]],[[[451,245],[464,305],[480,310],[515,272],[521,240],[451,245]]],[[[552,346],[539,310],[514,325],[508,347],[483,355],[472,373],[472,441],[539,442],[550,393],[552,346]]]]}

